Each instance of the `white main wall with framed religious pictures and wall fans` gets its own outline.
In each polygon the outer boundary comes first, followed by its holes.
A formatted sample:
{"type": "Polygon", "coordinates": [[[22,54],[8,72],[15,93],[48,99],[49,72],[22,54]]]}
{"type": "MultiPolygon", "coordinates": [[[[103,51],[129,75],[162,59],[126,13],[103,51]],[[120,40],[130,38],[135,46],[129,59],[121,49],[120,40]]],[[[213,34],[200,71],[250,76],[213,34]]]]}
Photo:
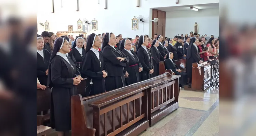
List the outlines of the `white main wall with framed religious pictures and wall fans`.
{"type": "MultiPolygon", "coordinates": [[[[191,4],[218,3],[219,0],[140,0],[140,7],[136,7],[136,0],[107,0],[107,10],[104,10],[105,0],[80,0],[80,11],[76,12],[76,0],[63,0],[63,7],[60,7],[61,0],[54,0],[55,13],[51,13],[52,0],[38,0],[37,20],[44,23],[49,22],[50,32],[68,31],[68,25],[73,25],[73,31],[77,31],[77,21],[84,18],[98,21],[98,30],[92,32],[99,34],[113,32],[115,35],[122,34],[123,37],[135,38],[135,35],[148,34],[151,36],[152,24],[149,20],[152,17],[150,8],[181,6],[191,4]],[[134,16],[142,15],[146,18],[144,27],[139,24],[139,29],[131,29],[131,19],[134,16]],[[143,30],[144,28],[144,30],[143,30]]],[[[44,27],[38,24],[38,34],[44,31],[44,27]]]]}

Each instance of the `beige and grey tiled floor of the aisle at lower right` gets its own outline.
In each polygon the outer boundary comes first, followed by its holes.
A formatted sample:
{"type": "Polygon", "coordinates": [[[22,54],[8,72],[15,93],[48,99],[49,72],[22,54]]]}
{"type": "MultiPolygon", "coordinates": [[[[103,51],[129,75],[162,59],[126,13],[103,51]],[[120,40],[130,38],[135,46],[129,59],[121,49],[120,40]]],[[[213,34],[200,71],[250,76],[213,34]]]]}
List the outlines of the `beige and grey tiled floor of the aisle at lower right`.
{"type": "Polygon", "coordinates": [[[179,108],[139,136],[219,136],[218,88],[180,90],[179,108]]]}

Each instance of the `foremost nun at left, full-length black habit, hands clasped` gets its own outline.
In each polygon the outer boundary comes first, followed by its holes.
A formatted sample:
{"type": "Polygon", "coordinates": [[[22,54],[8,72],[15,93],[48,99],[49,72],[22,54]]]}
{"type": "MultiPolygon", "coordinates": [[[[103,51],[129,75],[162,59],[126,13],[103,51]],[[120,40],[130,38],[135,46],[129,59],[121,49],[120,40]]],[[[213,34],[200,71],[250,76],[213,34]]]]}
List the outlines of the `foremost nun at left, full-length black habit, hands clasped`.
{"type": "Polygon", "coordinates": [[[48,85],[52,88],[51,127],[56,129],[58,136],[68,135],[71,130],[71,96],[80,83],[77,67],[66,54],[69,52],[68,41],[62,37],[57,38],[48,70],[48,85]]]}

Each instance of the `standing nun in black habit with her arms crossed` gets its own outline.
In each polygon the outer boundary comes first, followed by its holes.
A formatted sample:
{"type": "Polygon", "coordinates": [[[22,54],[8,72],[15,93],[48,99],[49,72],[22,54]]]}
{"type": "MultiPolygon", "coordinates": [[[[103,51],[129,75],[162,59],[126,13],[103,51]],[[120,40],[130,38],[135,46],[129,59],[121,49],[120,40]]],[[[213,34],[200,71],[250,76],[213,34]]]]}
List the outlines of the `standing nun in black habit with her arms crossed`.
{"type": "Polygon", "coordinates": [[[104,59],[104,69],[108,71],[105,79],[106,91],[117,89],[125,86],[126,63],[129,63],[127,57],[116,46],[116,36],[113,33],[106,33],[103,38],[102,55],[104,59]]]}

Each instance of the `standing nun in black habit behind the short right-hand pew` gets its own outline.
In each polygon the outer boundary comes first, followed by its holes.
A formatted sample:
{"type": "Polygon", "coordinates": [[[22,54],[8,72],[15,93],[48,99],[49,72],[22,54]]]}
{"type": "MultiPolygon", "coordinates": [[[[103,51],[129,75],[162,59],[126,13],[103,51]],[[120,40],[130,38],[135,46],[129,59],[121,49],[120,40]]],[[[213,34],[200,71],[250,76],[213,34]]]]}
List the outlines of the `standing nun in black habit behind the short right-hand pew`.
{"type": "Polygon", "coordinates": [[[198,44],[198,41],[196,40],[196,38],[192,37],[187,50],[186,73],[188,75],[188,78],[190,79],[190,82],[192,78],[192,64],[196,62],[202,63],[198,53],[197,44],[198,44]]]}

